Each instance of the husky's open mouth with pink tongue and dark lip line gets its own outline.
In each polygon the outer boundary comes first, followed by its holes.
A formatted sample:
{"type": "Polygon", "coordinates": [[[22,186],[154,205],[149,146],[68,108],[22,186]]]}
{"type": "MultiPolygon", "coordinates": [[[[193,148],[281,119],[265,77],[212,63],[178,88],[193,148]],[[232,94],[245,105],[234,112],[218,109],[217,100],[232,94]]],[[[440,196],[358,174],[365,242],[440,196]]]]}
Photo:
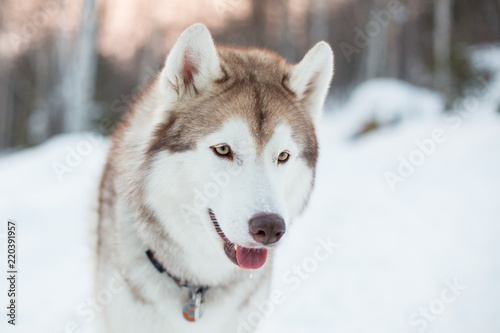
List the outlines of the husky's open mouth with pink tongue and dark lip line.
{"type": "Polygon", "coordinates": [[[219,236],[224,241],[224,252],[229,260],[231,260],[234,264],[247,269],[261,268],[266,263],[267,249],[246,248],[232,243],[229,239],[227,239],[226,235],[222,231],[212,209],[208,209],[208,214],[214,224],[215,231],[217,231],[219,236]]]}

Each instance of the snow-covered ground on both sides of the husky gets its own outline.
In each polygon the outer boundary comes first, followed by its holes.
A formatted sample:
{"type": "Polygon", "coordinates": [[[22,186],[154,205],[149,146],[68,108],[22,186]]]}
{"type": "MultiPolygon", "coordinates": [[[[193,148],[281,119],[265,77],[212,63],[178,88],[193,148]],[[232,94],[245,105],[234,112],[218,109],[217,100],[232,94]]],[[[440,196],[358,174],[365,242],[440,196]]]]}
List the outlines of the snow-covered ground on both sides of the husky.
{"type": "MultiPolygon", "coordinates": [[[[357,140],[346,124],[383,110],[324,118],[316,189],[277,252],[273,291],[283,296],[255,315],[265,318],[259,333],[500,331],[496,79],[457,105],[461,113],[403,116],[357,140]]],[[[387,87],[374,83],[353,98],[380,102],[391,96],[387,87]]],[[[405,95],[388,112],[429,105],[422,94],[405,95]]],[[[2,332],[88,327],[77,309],[91,302],[92,221],[106,149],[104,140],[74,134],[0,158],[0,233],[14,219],[19,242],[18,322],[6,324],[1,278],[2,332]]]]}

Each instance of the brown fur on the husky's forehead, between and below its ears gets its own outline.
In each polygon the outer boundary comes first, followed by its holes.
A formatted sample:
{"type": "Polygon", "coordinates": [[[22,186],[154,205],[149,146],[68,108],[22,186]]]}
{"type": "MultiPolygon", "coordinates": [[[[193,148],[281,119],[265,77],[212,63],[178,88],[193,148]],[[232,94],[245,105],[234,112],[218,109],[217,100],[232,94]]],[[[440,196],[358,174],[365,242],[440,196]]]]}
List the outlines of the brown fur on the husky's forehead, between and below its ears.
{"type": "Polygon", "coordinates": [[[289,87],[292,66],[261,49],[217,46],[217,54],[223,76],[210,90],[197,92],[170,113],[158,126],[149,153],[192,149],[200,137],[220,128],[228,118],[239,117],[252,128],[258,147],[267,143],[278,124],[287,123],[304,146],[302,156],[314,167],[318,146],[313,120],[289,87]]]}

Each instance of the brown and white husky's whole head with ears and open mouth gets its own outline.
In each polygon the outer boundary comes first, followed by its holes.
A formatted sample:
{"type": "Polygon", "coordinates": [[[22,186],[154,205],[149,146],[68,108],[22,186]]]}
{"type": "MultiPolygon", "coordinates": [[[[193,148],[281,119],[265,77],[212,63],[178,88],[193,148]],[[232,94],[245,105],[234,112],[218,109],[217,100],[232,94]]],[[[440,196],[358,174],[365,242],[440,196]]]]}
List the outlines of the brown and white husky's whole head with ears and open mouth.
{"type": "Polygon", "coordinates": [[[201,24],[184,31],[157,82],[163,119],[148,149],[149,204],[182,216],[169,232],[203,225],[235,264],[261,267],[308,201],[332,74],[324,42],[290,65],[216,47],[201,24]]]}

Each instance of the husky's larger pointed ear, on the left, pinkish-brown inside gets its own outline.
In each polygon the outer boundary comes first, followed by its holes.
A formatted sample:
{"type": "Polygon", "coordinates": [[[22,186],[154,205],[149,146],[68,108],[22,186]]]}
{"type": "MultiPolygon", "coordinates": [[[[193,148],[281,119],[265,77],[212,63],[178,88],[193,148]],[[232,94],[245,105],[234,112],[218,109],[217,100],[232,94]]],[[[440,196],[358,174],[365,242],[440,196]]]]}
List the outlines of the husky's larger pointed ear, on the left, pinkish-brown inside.
{"type": "Polygon", "coordinates": [[[193,24],[181,34],[161,72],[160,85],[167,103],[186,101],[208,89],[223,75],[208,29],[193,24]]]}

